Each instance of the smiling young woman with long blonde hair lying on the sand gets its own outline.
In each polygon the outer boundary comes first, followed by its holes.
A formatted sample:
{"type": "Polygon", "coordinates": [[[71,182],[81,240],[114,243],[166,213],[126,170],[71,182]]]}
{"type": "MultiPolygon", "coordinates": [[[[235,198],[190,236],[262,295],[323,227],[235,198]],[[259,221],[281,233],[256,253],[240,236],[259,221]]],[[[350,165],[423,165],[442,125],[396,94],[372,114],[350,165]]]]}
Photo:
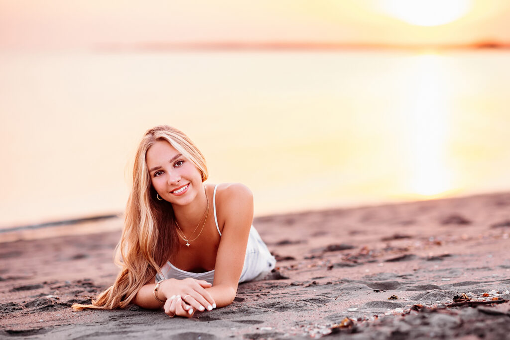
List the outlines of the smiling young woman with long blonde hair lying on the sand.
{"type": "Polygon", "coordinates": [[[121,271],[92,305],[76,309],[164,307],[170,317],[226,306],[239,282],[274,268],[241,184],[204,184],[205,159],[180,130],[156,126],[143,137],[117,246],[121,271]]]}

